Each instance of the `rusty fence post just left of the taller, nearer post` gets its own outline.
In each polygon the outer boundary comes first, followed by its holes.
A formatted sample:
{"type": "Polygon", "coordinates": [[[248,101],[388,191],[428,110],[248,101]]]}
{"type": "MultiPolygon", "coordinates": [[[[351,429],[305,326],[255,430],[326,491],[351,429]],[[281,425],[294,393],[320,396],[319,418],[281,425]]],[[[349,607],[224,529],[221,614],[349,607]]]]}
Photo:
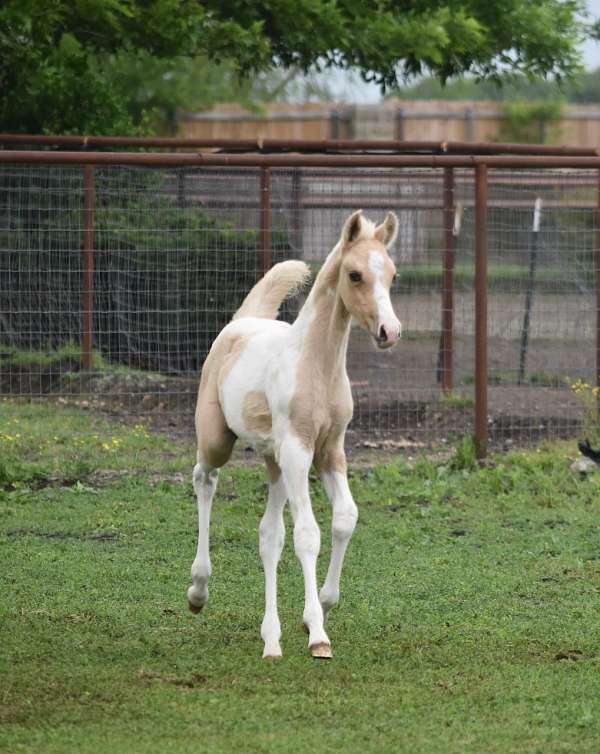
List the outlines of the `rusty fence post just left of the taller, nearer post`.
{"type": "Polygon", "coordinates": [[[454,169],[444,168],[444,274],[442,280],[442,390],[454,387],[454,169]]]}

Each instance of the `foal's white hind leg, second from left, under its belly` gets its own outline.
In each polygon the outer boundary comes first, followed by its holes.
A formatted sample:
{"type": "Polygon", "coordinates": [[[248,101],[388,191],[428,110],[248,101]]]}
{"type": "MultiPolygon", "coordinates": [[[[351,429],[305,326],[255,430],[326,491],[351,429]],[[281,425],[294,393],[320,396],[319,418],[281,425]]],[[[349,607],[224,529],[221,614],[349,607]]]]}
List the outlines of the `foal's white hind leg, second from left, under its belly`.
{"type": "Polygon", "coordinates": [[[277,614],[277,564],[283,550],[285,526],[283,508],[287,499],[281,470],[272,458],[265,458],[269,475],[269,498],[260,522],[260,557],[265,569],[265,617],[260,635],[265,643],[263,657],[281,657],[281,625],[277,614]]]}

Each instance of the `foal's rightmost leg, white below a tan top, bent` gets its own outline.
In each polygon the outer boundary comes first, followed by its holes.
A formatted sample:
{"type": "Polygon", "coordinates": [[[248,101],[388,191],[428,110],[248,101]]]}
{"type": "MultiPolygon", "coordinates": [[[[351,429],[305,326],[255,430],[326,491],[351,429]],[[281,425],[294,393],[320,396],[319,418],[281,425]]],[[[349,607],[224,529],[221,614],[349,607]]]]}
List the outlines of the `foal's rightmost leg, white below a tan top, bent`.
{"type": "Polygon", "coordinates": [[[346,548],[358,519],[358,509],[348,485],[346,458],[343,451],[327,459],[321,470],[321,479],[331,502],[333,518],[331,524],[331,560],[319,599],[323,613],[327,614],[340,598],[340,576],[344,564],[346,548]]]}

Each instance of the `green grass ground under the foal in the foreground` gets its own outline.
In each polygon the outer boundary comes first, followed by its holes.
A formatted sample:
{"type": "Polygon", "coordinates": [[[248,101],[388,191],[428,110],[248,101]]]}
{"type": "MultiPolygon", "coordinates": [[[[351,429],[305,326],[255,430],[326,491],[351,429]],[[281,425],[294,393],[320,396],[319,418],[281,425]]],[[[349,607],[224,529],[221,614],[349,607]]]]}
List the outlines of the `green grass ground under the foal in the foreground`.
{"type": "Polygon", "coordinates": [[[334,659],[307,652],[288,520],[270,663],[262,469],[222,473],[194,617],[192,448],[0,402],[0,751],[596,754],[600,475],[572,472],[574,453],[478,468],[463,443],[444,463],[354,469],[334,659]]]}

